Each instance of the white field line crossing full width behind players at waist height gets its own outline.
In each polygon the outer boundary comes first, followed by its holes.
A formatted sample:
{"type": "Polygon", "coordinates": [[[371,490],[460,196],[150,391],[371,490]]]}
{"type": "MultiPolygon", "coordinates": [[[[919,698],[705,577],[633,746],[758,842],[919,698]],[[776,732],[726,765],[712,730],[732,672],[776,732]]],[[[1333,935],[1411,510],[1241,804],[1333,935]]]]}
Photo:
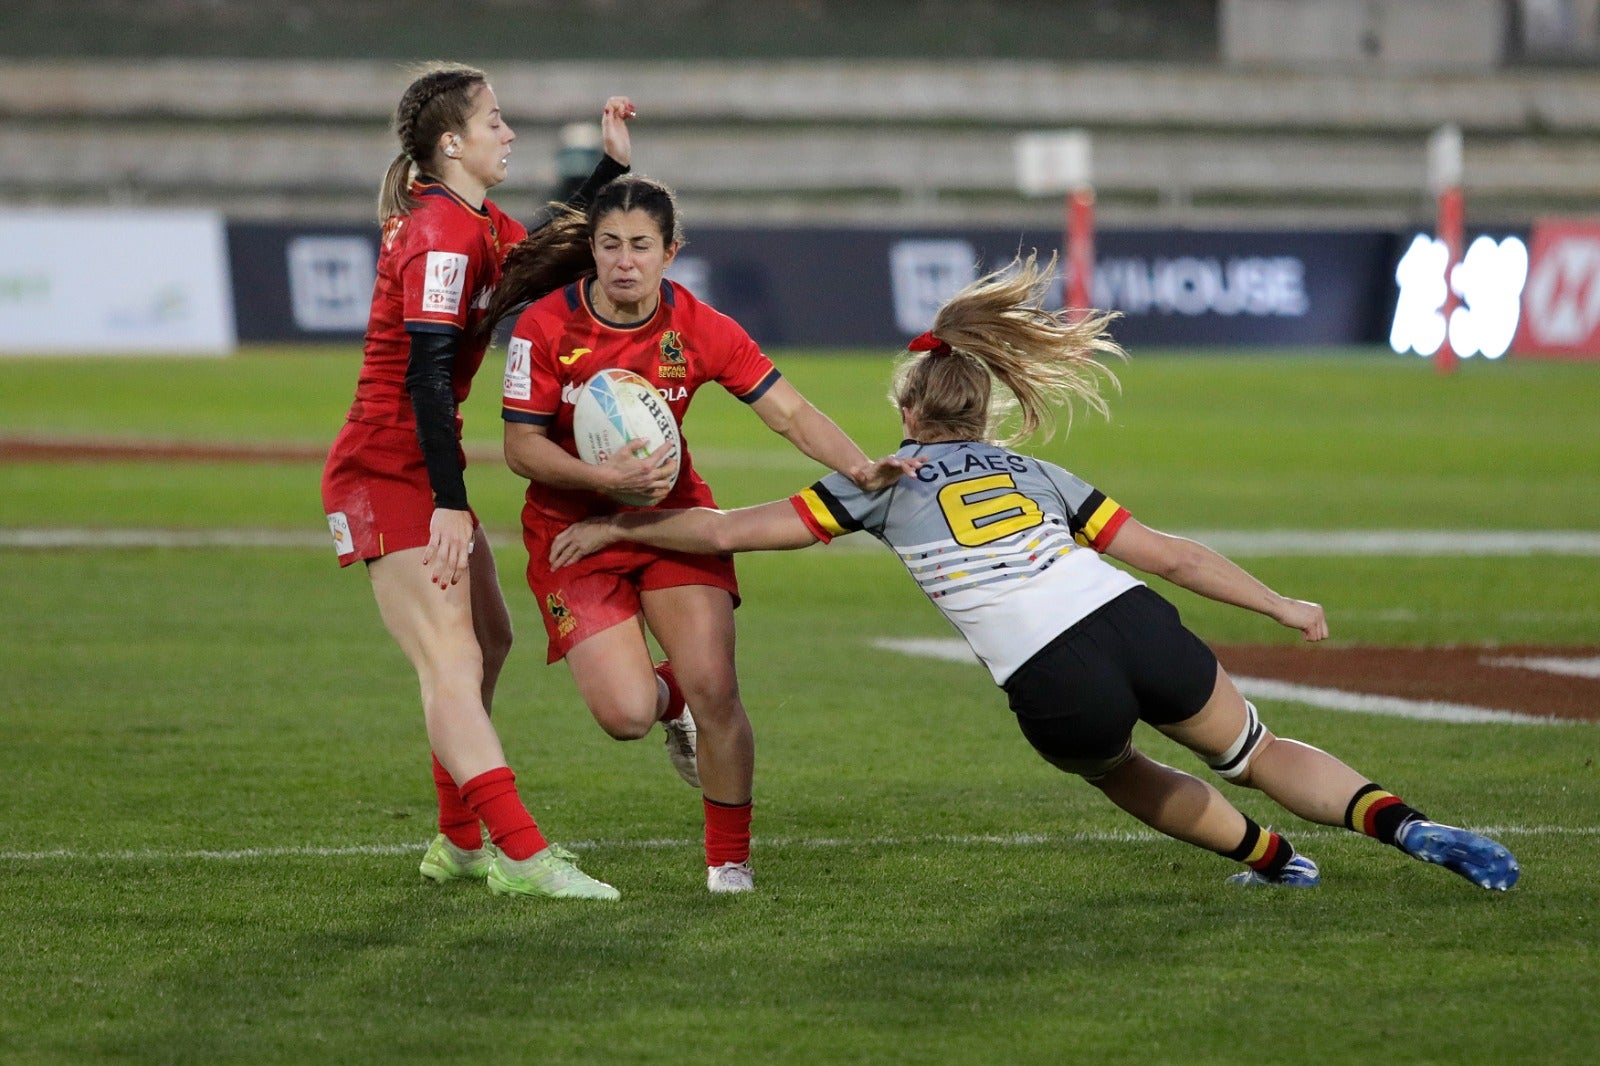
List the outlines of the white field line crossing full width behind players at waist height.
{"type": "MultiPolygon", "coordinates": [[[[1600,555],[1600,533],[1587,530],[1200,530],[1186,533],[1232,555],[1600,555]]],[[[507,533],[499,539],[515,539],[507,533]]],[[[0,530],[0,547],[328,547],[307,530],[0,530]]],[[[838,549],[877,549],[870,536],[846,536],[838,549]]],[[[834,551],[834,549],[830,549],[834,551]]]]}

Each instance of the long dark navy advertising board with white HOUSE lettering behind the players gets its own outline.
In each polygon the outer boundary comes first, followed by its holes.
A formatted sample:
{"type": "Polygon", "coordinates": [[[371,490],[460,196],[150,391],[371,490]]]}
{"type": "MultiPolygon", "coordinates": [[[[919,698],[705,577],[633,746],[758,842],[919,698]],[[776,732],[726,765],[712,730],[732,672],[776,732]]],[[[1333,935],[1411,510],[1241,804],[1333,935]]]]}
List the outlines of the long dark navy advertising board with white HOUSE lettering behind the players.
{"type": "MultiPolygon", "coordinates": [[[[232,222],[242,341],[358,339],[376,226],[232,222]]],[[[1059,232],[691,229],[669,277],[768,347],[899,347],[952,293],[1059,232]]],[[[1093,304],[1117,338],[1154,346],[1373,344],[1395,306],[1389,232],[1109,230],[1093,304]]],[[[1061,304],[1059,279],[1054,306],[1061,304]]]]}

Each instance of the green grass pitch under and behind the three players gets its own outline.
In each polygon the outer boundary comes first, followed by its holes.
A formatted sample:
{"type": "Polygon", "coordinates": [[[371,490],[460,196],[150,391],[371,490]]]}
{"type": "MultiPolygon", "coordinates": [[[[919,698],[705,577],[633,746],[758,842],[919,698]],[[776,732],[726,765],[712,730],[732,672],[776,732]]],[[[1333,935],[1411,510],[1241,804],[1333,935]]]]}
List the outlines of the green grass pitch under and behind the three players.
{"type": "MultiPolygon", "coordinates": [[[[322,445],[355,359],[6,359],[0,439],[322,445]]],[[[885,357],[779,363],[869,451],[898,443],[885,357]]],[[[1230,789],[1325,877],[1238,892],[1232,864],[1037,759],[978,664],[874,650],[950,634],[882,551],[741,560],[758,893],[710,898],[698,797],[659,736],[606,739],[542,666],[520,483],[493,459],[494,370],[467,429],[490,453],[469,485],[520,634],[496,720],[541,826],[624,900],[416,876],[432,834],[416,683],[365,576],[318,539],[318,463],[0,453],[0,535],[306,535],[0,539],[0,1061],[1594,1060],[1597,727],[1264,704],[1275,731],[1429,813],[1496,828],[1523,880],[1485,893],[1230,789]]],[[[1122,378],[1112,423],[1040,451],[1160,528],[1600,530],[1600,367],[1141,354],[1122,378]]],[[[726,397],[686,429],[725,504],[816,475],[726,397]]],[[[1594,555],[1240,562],[1325,602],[1338,642],[1600,643],[1594,555]]],[[[1291,642],[1174,600],[1218,642],[1291,642]]]]}

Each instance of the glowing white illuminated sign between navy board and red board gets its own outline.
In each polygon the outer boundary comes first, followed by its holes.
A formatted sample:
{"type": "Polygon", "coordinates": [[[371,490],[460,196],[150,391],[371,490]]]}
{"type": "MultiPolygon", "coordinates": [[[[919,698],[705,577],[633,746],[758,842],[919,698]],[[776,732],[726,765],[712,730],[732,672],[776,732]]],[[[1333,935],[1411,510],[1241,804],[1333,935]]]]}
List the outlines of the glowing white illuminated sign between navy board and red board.
{"type": "Polygon", "coordinates": [[[1450,347],[1459,359],[1499,359],[1517,336],[1526,282],[1528,246],[1517,237],[1499,242],[1478,237],[1450,269],[1445,242],[1418,234],[1395,267],[1400,296],[1389,327],[1389,347],[1402,355],[1434,355],[1448,330],[1450,347]],[[1451,291],[1459,303],[1446,322],[1445,304],[1451,291]]]}

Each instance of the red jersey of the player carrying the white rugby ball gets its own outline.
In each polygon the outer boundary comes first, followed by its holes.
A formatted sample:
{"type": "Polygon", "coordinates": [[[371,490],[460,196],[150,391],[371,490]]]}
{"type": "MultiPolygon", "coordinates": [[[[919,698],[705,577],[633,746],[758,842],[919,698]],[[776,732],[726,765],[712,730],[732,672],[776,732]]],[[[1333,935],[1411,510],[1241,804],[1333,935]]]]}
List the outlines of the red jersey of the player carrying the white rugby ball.
{"type": "MultiPolygon", "coordinates": [[[[680,434],[690,400],[707,381],[754,403],[779,379],[778,368],[738,322],[702,304],[682,285],[662,282],[661,303],[650,319],[616,325],[595,314],[589,303],[590,282],[584,279],[557,290],[517,319],[506,346],[506,421],[544,426],[552,440],[578,455],[573,399],[602,370],[632,370],[656,386],[678,419],[680,434]]],[[[678,482],[658,506],[714,506],[710,488],[694,472],[686,434],[678,482]]],[[[528,507],[563,525],[626,509],[600,493],[538,483],[528,487],[528,507]]]]}

